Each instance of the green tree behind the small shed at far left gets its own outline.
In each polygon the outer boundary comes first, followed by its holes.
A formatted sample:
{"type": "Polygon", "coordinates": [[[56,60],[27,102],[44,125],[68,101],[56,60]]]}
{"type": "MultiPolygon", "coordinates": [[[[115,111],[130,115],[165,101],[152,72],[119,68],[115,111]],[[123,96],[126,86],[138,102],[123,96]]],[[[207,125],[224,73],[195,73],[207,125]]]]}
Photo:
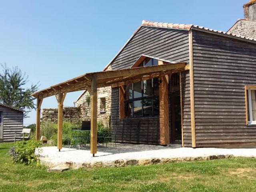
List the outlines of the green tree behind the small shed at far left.
{"type": "Polygon", "coordinates": [[[21,108],[25,110],[24,118],[28,117],[28,112],[35,109],[31,96],[33,92],[38,90],[38,83],[32,84],[29,88],[24,86],[28,83],[28,75],[22,73],[18,66],[8,68],[2,65],[2,73],[0,73],[0,103],[21,108]]]}

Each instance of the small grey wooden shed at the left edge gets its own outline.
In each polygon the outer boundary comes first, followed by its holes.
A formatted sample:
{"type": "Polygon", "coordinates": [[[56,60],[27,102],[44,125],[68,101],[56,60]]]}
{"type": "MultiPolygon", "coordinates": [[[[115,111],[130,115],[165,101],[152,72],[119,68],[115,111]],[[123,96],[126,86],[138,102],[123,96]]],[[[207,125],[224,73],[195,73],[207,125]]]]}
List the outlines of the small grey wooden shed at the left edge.
{"type": "Polygon", "coordinates": [[[0,103],[0,142],[14,141],[23,128],[24,110],[0,103]]]}

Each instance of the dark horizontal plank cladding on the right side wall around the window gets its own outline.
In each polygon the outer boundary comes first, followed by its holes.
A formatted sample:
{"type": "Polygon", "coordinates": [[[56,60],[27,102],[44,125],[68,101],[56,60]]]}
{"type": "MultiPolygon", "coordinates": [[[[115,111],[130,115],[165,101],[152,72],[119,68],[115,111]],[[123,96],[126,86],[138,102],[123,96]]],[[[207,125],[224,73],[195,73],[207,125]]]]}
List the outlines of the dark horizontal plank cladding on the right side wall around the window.
{"type": "Polygon", "coordinates": [[[256,143],[244,95],[245,85],[256,85],[255,44],[194,30],[193,57],[196,146],[256,143]]]}

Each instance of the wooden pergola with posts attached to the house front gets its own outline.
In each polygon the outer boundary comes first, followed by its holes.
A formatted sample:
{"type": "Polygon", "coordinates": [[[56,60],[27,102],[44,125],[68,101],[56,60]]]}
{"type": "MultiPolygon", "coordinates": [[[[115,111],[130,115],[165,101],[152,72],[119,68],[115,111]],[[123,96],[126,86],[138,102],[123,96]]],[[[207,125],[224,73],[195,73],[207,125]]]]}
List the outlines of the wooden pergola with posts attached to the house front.
{"type": "MultiPolygon", "coordinates": [[[[136,63],[135,63],[136,64],[136,63]]],[[[138,66],[138,65],[137,65],[138,66]]],[[[68,92],[88,90],[91,96],[91,131],[90,131],[90,152],[97,153],[97,88],[112,86],[120,87],[120,107],[122,105],[122,95],[124,96],[125,84],[139,82],[155,77],[160,79],[160,143],[167,144],[169,138],[169,117],[168,117],[168,78],[167,75],[186,70],[186,63],[171,63],[158,60],[157,66],[136,67],[122,70],[112,70],[103,72],[86,73],[76,78],[67,80],[49,88],[34,92],[32,96],[37,99],[36,107],[36,140],[40,137],[40,107],[46,97],[56,96],[58,102],[58,142],[57,148],[62,149],[62,121],[63,102],[68,92]],[[166,105],[167,102],[167,105],[166,105]]],[[[124,98],[124,97],[123,97],[124,98]]],[[[124,105],[124,104],[123,104],[124,105]]],[[[124,107],[124,106],[123,106],[124,107]]],[[[120,112],[120,118],[124,117],[124,112],[120,112]]]]}

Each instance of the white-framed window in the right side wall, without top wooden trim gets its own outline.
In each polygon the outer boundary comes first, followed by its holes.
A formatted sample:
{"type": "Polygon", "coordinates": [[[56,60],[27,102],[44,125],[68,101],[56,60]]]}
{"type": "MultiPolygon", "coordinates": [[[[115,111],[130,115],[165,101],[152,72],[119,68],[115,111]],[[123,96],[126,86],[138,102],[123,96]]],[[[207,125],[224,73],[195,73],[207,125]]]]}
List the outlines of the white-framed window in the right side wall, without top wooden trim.
{"type": "Polygon", "coordinates": [[[256,90],[247,89],[246,96],[248,124],[256,124],[256,90]]]}

